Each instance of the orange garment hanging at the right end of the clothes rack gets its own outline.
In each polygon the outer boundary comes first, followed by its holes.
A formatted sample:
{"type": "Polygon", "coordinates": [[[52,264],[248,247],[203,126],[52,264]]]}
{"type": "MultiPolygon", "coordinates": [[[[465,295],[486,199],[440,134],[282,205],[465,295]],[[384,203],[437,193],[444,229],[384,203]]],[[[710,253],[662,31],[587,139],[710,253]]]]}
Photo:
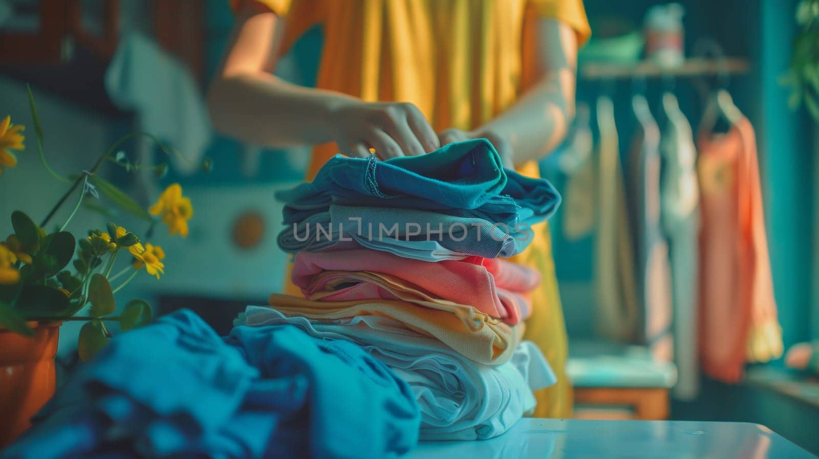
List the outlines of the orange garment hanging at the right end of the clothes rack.
{"type": "Polygon", "coordinates": [[[708,376],[737,382],[746,362],[782,354],[749,120],[740,117],[726,134],[701,133],[697,166],[700,358],[708,376]]]}

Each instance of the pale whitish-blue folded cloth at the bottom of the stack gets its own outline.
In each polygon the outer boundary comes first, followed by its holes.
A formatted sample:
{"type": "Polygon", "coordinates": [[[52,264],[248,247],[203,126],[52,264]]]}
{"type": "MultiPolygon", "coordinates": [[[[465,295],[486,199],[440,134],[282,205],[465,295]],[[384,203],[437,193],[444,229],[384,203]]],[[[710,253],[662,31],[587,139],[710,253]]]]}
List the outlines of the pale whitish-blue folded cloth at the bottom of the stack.
{"type": "Polygon", "coordinates": [[[409,383],[421,408],[421,439],[474,440],[503,434],[535,407],[532,390],[556,381],[530,341],[523,341],[508,362],[482,365],[389,317],[311,321],[249,306],[236,323],[292,324],[317,338],[359,344],[409,383]]]}

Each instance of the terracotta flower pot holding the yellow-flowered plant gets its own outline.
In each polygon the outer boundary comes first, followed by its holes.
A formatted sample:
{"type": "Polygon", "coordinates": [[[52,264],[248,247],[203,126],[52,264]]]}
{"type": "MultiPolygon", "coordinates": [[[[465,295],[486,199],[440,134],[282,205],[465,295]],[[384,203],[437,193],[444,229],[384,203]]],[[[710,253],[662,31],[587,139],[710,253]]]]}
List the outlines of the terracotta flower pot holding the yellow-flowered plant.
{"type": "Polygon", "coordinates": [[[29,322],[34,336],[0,327],[0,448],[29,428],[29,420],[57,389],[57,355],[62,322],[29,322]]]}

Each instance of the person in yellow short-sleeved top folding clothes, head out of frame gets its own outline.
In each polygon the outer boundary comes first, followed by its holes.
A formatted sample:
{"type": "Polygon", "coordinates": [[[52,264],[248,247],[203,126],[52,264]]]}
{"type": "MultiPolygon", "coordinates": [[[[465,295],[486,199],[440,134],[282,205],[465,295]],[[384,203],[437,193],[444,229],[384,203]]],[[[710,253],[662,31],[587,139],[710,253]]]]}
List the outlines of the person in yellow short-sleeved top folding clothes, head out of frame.
{"type": "MultiPolygon", "coordinates": [[[[486,137],[505,165],[538,176],[574,115],[582,0],[231,0],[237,21],[210,85],[215,127],[261,146],[314,146],[305,179],[338,152],[423,155],[486,137]],[[324,28],[316,88],[271,74],[313,25],[324,28]]],[[[535,416],[572,409],[548,228],[514,261],[538,269],[524,339],[558,376],[535,416]]],[[[292,285],[287,293],[296,293],[292,285]]]]}

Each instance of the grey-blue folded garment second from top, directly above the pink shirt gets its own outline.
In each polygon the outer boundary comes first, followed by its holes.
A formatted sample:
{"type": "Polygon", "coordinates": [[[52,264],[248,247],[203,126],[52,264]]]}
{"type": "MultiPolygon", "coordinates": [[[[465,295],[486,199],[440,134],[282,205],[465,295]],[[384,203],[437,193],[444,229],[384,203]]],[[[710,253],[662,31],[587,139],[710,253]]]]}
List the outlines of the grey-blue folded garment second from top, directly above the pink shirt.
{"type": "MultiPolygon", "coordinates": [[[[532,210],[523,209],[523,214],[532,214],[532,210]]],[[[533,236],[526,224],[493,226],[482,218],[455,217],[428,210],[330,205],[328,212],[310,215],[304,222],[285,227],[278,235],[278,246],[289,253],[316,252],[353,239],[368,248],[397,251],[402,256],[416,258],[405,249],[419,242],[436,242],[428,248],[437,250],[440,245],[450,251],[444,256],[495,258],[520,253],[533,236]]],[[[421,250],[416,247],[413,252],[421,250]]],[[[431,258],[437,257],[423,253],[419,259],[431,258]]]]}

